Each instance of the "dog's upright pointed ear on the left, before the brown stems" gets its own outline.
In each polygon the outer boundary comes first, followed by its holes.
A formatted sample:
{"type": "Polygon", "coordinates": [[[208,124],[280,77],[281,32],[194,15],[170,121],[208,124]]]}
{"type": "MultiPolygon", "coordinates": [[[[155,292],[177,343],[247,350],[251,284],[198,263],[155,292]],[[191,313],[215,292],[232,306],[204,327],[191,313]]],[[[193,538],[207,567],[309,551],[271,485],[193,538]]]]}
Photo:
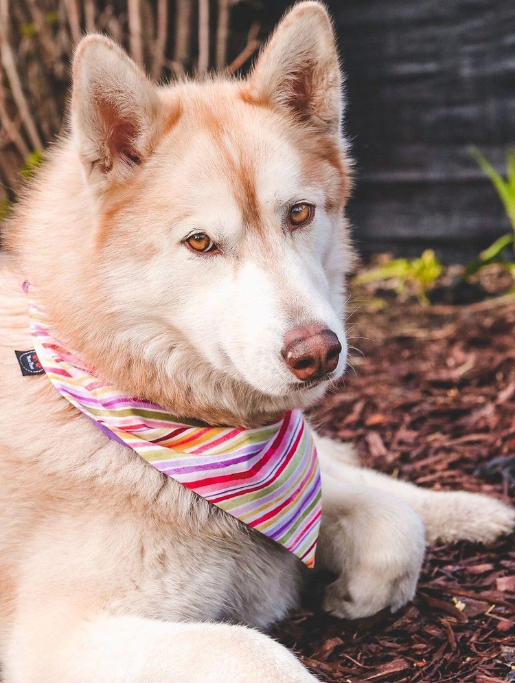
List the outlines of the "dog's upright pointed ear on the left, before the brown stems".
{"type": "Polygon", "coordinates": [[[109,38],[80,41],[73,59],[71,126],[82,163],[103,188],[122,182],[159,133],[157,87],[109,38]]]}

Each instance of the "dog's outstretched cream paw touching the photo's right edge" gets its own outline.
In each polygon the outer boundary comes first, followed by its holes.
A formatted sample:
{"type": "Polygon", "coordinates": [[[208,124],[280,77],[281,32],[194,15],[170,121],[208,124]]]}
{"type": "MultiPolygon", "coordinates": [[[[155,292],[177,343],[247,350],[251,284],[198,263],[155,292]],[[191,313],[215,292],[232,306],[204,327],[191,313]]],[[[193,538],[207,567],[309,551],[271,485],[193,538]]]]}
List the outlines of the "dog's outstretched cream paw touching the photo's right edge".
{"type": "Polygon", "coordinates": [[[511,533],[515,509],[481,493],[438,491],[420,509],[426,526],[426,541],[491,543],[511,533]]]}

